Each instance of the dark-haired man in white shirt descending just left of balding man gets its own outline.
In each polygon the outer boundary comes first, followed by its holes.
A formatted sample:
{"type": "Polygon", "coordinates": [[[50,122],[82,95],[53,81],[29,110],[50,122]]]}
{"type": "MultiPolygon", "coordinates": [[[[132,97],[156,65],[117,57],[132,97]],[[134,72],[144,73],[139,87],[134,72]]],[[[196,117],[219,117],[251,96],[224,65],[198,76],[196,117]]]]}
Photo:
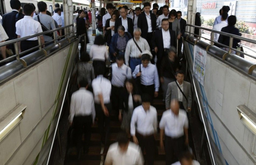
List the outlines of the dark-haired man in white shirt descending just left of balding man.
{"type": "Polygon", "coordinates": [[[131,117],[131,136],[133,142],[138,144],[142,151],[145,148],[146,162],[148,165],[154,164],[156,151],[155,134],[157,133],[157,110],[150,105],[150,96],[142,96],[142,105],[133,111],[131,117]],[[137,125],[137,127],[136,127],[137,125]]]}

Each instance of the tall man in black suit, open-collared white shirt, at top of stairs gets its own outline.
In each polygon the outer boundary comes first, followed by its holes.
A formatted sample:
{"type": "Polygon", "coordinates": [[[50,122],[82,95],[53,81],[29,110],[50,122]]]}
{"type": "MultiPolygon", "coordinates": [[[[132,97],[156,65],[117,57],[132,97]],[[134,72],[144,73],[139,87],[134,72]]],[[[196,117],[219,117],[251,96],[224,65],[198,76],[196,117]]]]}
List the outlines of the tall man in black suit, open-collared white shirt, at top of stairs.
{"type": "Polygon", "coordinates": [[[141,36],[149,43],[150,50],[152,50],[151,39],[153,32],[157,28],[157,17],[150,13],[151,5],[149,2],[144,3],[144,12],[138,16],[138,27],[141,28],[141,36]]]}

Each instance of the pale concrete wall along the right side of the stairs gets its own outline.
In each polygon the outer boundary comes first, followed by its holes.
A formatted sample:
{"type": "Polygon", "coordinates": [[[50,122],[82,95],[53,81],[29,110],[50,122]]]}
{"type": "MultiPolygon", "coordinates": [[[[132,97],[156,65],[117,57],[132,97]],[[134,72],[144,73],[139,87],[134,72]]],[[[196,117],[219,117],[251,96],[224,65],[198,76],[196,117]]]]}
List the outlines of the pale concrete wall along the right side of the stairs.
{"type": "MultiPolygon", "coordinates": [[[[187,47],[186,44],[185,46],[187,47]]],[[[193,62],[190,65],[193,66],[193,62]]],[[[255,164],[256,135],[240,121],[237,106],[244,104],[256,113],[256,82],[222,60],[207,54],[204,86],[202,90],[199,83],[196,86],[202,105],[208,105],[208,111],[205,107],[205,114],[208,123],[214,127],[214,130],[210,129],[210,135],[213,140],[218,139],[216,146],[219,141],[220,152],[227,163],[255,164]]]]}

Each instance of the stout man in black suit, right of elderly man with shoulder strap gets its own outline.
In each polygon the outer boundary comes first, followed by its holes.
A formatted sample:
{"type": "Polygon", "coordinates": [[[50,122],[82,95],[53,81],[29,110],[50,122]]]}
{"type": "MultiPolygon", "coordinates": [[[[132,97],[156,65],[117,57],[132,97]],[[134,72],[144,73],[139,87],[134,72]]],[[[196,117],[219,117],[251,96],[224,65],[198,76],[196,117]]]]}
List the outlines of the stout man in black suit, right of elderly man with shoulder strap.
{"type": "Polygon", "coordinates": [[[158,71],[160,71],[159,68],[160,68],[163,56],[167,55],[166,50],[169,50],[171,46],[176,47],[175,31],[169,28],[169,21],[167,18],[162,19],[161,27],[162,27],[161,30],[155,31],[151,40],[152,47],[155,53],[157,53],[158,71]],[[163,36],[165,37],[163,38],[163,36]]]}

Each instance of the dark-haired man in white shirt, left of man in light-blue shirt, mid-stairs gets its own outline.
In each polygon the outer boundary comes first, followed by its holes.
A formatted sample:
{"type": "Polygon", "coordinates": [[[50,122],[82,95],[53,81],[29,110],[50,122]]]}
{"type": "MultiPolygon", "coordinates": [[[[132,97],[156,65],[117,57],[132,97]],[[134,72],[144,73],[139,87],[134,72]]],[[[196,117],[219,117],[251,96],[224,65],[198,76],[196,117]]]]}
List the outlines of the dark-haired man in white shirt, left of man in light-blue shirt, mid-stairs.
{"type": "Polygon", "coordinates": [[[125,86],[126,79],[132,79],[131,68],[124,64],[124,57],[121,55],[116,56],[116,63],[112,64],[112,109],[118,114],[119,112],[119,102],[122,93],[122,89],[125,86]]]}

